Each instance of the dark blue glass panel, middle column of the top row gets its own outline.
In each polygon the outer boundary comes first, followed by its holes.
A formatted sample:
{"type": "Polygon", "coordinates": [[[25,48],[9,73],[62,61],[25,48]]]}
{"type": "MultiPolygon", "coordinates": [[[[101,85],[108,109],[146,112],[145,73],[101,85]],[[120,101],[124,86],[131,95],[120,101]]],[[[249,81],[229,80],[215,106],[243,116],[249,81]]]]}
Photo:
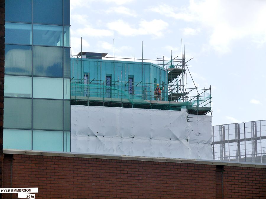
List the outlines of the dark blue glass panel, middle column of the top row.
{"type": "Polygon", "coordinates": [[[63,24],[62,0],[33,0],[33,23],[63,24]]]}

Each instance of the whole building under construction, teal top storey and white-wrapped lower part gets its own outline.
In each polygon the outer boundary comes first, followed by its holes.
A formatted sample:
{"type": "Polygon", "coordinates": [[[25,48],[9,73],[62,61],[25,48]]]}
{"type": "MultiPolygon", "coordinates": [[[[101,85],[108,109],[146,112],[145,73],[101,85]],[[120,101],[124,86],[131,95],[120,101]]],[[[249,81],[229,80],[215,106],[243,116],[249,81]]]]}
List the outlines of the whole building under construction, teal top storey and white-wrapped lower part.
{"type": "Polygon", "coordinates": [[[72,55],[71,152],[212,159],[211,88],[187,87],[188,61],[72,55]]]}

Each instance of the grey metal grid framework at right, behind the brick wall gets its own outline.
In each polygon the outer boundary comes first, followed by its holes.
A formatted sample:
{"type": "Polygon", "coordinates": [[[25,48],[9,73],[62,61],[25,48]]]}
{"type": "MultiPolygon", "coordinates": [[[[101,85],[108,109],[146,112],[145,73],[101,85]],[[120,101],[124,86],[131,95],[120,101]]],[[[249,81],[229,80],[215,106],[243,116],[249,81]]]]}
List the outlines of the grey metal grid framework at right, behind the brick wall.
{"type": "Polygon", "coordinates": [[[266,163],[266,120],[212,127],[213,159],[266,163]]]}

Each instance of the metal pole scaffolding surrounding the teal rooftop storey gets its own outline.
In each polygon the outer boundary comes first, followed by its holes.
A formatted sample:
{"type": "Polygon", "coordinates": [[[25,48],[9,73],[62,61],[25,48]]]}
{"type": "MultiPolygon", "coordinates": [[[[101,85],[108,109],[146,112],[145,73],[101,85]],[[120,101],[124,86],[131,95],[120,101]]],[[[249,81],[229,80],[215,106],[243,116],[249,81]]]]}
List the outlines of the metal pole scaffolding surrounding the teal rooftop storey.
{"type": "MultiPolygon", "coordinates": [[[[113,71],[114,74],[119,74],[115,68],[115,62],[121,60],[132,61],[134,63],[140,63],[142,65],[142,79],[130,82],[129,78],[129,65],[124,66],[124,74],[121,70],[120,80],[119,76],[116,80],[111,80],[107,83],[106,80],[100,78],[88,79],[77,75],[74,78],[74,63],[72,62],[72,79],[71,79],[71,100],[72,104],[83,104],[83,105],[97,105],[97,106],[119,106],[119,107],[134,107],[134,108],[152,108],[152,109],[166,109],[166,110],[181,110],[186,107],[189,114],[212,114],[211,111],[211,87],[210,88],[198,88],[195,85],[192,75],[189,71],[187,63],[193,58],[186,60],[185,58],[185,46],[182,44],[182,58],[178,56],[172,58],[159,58],[157,59],[143,59],[143,48],[142,48],[142,59],[135,58],[123,58],[123,57],[106,57],[106,53],[99,53],[97,56],[87,55],[87,53],[81,52],[78,55],[71,55],[76,58],[78,63],[81,60],[88,59],[101,59],[101,60],[113,60],[113,71]],[[156,67],[166,71],[162,73],[160,71],[159,84],[163,85],[165,89],[162,91],[162,100],[157,101],[155,96],[156,83],[152,83],[152,74],[150,71],[150,77],[144,78],[144,65],[152,64],[156,67]],[[188,88],[188,75],[191,78],[194,87],[188,88]],[[166,75],[165,77],[162,77],[166,75]],[[123,81],[123,78],[125,79],[123,81]],[[162,80],[167,81],[163,82],[162,80]],[[131,84],[131,87],[130,85],[131,84]]],[[[100,68],[101,65],[97,67],[100,68]]]]}

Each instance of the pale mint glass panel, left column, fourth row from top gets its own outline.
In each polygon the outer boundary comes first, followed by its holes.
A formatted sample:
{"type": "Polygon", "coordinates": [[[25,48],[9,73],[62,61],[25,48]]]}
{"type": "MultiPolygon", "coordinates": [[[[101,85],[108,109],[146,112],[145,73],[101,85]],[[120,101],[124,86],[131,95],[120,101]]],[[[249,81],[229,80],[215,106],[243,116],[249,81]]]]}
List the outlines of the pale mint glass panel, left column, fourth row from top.
{"type": "Polygon", "coordinates": [[[5,75],[5,97],[31,97],[31,77],[5,75]]]}

